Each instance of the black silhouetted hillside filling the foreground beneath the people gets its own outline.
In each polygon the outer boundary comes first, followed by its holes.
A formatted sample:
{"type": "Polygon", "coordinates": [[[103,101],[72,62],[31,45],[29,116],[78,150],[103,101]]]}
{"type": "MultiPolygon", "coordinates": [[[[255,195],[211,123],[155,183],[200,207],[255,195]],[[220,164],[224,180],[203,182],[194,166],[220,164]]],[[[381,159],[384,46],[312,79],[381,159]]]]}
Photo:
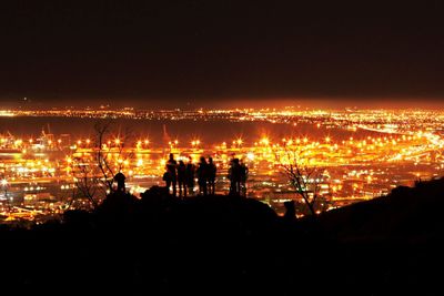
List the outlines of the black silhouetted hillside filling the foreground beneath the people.
{"type": "Polygon", "coordinates": [[[0,231],[12,295],[443,295],[444,180],[322,214],[153,187],[0,231]]]}

